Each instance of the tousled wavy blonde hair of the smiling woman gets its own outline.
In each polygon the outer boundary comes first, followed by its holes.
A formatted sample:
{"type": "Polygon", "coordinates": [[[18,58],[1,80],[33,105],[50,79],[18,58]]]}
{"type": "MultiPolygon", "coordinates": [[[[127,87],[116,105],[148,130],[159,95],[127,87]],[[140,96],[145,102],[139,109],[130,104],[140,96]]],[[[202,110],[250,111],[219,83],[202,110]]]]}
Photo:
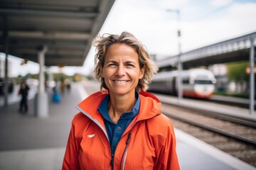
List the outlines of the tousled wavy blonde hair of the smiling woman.
{"type": "Polygon", "coordinates": [[[144,77],[139,79],[136,90],[146,91],[153,75],[158,71],[158,67],[156,67],[154,62],[150,59],[150,55],[146,51],[146,47],[144,47],[144,45],[142,45],[142,43],[139,42],[134,35],[128,32],[123,32],[121,35],[104,34],[102,36],[97,36],[92,42],[92,44],[96,47],[94,76],[95,79],[101,82],[100,91],[102,91],[102,88],[108,90],[105,80],[100,74],[100,68],[104,67],[105,55],[109,47],[117,43],[129,45],[139,55],[139,69],[144,68],[145,71],[144,77]]]}

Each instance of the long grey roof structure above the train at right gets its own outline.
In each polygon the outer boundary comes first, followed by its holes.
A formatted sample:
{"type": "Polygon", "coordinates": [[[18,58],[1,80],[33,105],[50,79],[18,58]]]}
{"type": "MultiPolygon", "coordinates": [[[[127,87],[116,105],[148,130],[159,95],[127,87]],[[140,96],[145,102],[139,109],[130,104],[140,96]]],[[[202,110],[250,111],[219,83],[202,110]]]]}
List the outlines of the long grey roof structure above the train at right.
{"type": "Polygon", "coordinates": [[[179,56],[181,57],[183,69],[225,62],[249,61],[251,50],[255,50],[255,38],[256,32],[242,35],[230,40],[217,42],[213,45],[183,52],[181,55],[166,57],[163,60],[157,61],[157,64],[162,69],[174,69],[178,65],[179,56]]]}

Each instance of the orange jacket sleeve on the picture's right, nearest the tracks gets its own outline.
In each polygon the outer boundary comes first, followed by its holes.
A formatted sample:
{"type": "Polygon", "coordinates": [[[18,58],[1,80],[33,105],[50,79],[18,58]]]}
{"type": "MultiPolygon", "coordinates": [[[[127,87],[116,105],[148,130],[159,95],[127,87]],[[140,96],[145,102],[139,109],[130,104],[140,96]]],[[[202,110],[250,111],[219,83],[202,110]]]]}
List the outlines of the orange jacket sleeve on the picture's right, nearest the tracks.
{"type": "Polygon", "coordinates": [[[178,157],[176,154],[176,137],[171,121],[166,130],[166,138],[161,145],[156,169],[180,169],[178,164],[178,157]]]}

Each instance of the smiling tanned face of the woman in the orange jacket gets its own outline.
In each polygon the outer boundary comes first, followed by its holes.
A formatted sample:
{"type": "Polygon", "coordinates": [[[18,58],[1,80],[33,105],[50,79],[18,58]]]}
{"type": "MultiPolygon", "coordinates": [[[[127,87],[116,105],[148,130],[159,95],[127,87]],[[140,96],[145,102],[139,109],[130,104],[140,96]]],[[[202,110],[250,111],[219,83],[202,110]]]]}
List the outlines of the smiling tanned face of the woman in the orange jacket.
{"type": "Polygon", "coordinates": [[[139,55],[129,45],[114,44],[105,55],[101,76],[105,79],[110,94],[134,95],[135,88],[144,75],[139,68],[139,55]]]}

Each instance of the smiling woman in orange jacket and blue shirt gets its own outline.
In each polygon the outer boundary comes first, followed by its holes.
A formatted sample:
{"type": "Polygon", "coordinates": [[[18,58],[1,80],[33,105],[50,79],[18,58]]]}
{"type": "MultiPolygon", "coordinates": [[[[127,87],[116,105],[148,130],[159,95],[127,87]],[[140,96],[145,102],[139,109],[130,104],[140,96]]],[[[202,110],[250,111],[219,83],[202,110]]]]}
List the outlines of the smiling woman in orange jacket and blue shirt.
{"type": "Polygon", "coordinates": [[[157,72],[148,52],[127,32],[95,47],[101,91],[77,106],[63,169],[179,169],[171,120],[145,92],[157,72]]]}

